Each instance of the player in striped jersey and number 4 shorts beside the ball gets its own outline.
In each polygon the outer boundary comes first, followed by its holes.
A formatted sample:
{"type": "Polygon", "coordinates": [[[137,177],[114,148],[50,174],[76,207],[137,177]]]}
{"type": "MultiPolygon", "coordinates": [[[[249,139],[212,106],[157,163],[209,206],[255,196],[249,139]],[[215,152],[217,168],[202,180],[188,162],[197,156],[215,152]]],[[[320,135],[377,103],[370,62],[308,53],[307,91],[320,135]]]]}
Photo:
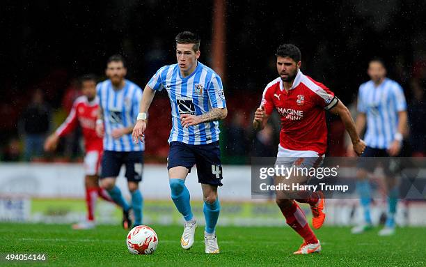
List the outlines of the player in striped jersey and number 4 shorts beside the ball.
{"type": "Polygon", "coordinates": [[[137,144],[143,137],[146,112],[155,92],[165,88],[172,110],[168,178],[173,202],[185,219],[181,245],[188,250],[194,244],[196,220],[191,212],[185,178],[196,164],[204,197],[205,252],[219,253],[214,231],[221,208],[217,187],[222,185],[218,121],[228,114],[223,86],[219,75],[198,62],[200,38],[196,34],[184,31],[175,40],[178,63],[157,70],[145,86],[133,139],[137,144]]]}

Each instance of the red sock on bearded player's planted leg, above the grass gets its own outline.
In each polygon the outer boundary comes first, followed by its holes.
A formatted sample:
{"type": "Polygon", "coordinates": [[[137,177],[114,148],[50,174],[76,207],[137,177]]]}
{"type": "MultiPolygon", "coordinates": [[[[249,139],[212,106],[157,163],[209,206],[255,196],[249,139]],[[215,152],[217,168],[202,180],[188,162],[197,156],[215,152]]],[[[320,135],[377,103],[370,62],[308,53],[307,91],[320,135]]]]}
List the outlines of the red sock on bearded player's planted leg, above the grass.
{"type": "Polygon", "coordinates": [[[306,243],[318,243],[317,237],[310,229],[308,222],[306,222],[305,213],[303,213],[296,202],[293,201],[290,208],[281,209],[281,213],[283,213],[287,224],[290,225],[294,231],[297,231],[297,234],[299,234],[306,243]]]}

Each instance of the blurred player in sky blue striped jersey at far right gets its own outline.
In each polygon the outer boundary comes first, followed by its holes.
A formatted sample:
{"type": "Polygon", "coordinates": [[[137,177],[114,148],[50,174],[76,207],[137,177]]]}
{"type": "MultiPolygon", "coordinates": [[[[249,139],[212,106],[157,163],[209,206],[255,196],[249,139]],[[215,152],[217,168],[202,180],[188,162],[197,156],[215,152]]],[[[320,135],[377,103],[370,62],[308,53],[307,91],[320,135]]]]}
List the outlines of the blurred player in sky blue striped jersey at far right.
{"type": "MultiPolygon", "coordinates": [[[[397,156],[402,146],[402,135],[407,131],[407,103],[404,91],[397,82],[386,78],[386,68],[381,59],[372,59],[368,65],[370,81],[359,86],[358,91],[358,116],[356,117],[356,130],[359,135],[363,132],[365,124],[365,143],[367,147],[363,157],[389,157],[397,156]]],[[[388,236],[395,233],[395,212],[397,206],[398,190],[395,181],[395,171],[390,169],[390,160],[377,158],[369,160],[361,158],[357,173],[357,191],[360,194],[363,206],[364,223],[352,229],[353,234],[359,234],[370,229],[371,188],[367,179],[368,172],[374,171],[375,163],[381,161],[386,175],[388,190],[388,213],[384,229],[379,235],[388,236]]]]}

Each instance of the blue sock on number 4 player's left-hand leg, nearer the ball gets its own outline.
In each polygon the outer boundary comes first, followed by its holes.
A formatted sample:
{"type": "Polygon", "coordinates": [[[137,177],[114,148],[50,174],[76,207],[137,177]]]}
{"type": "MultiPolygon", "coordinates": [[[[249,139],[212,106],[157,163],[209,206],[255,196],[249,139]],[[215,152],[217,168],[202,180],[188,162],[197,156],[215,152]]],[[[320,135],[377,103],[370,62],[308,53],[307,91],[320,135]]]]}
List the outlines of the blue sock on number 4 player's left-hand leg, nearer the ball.
{"type": "Polygon", "coordinates": [[[189,201],[189,191],[182,179],[170,179],[168,181],[171,188],[171,197],[178,211],[184,216],[186,221],[194,217],[191,211],[191,202],[189,201]]]}

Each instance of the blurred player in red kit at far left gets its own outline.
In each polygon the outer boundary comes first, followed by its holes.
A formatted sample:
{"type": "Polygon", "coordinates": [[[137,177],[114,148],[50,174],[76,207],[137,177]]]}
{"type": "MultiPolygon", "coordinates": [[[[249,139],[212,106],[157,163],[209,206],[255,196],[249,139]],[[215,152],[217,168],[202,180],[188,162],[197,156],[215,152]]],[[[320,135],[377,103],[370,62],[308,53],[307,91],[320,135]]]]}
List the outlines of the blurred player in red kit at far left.
{"type": "Polygon", "coordinates": [[[47,137],[45,151],[54,151],[59,138],[72,132],[78,124],[83,130],[84,148],[84,172],[86,174],[84,184],[86,186],[87,221],[74,224],[74,229],[90,229],[95,227],[95,203],[97,196],[107,201],[112,201],[106,190],[99,186],[99,167],[102,158],[103,144],[102,137],[97,136],[95,125],[97,119],[97,109],[99,102],[96,97],[96,79],[92,75],[81,77],[80,96],[74,101],[70,114],[62,125],[52,135],[47,137]]]}

